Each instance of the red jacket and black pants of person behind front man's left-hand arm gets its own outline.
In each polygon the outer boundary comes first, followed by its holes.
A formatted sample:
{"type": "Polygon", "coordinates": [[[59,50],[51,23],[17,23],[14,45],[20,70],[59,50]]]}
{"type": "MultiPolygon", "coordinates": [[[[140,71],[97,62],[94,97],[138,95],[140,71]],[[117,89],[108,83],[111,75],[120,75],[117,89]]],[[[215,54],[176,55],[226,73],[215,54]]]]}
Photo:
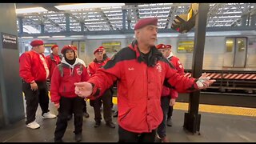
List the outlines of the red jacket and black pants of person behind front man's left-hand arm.
{"type": "MultiPolygon", "coordinates": [[[[107,61],[108,60],[106,59],[105,61],[98,62],[95,58],[93,62],[90,62],[90,65],[88,66],[90,76],[93,76],[98,69],[102,68],[102,66],[106,64],[107,61]]],[[[110,123],[112,122],[112,94],[110,89],[105,90],[105,92],[102,94],[102,97],[95,100],[90,100],[90,106],[94,107],[94,120],[96,122],[96,125],[100,125],[102,120],[102,114],[100,110],[102,103],[103,118],[106,123],[110,123]]]]}

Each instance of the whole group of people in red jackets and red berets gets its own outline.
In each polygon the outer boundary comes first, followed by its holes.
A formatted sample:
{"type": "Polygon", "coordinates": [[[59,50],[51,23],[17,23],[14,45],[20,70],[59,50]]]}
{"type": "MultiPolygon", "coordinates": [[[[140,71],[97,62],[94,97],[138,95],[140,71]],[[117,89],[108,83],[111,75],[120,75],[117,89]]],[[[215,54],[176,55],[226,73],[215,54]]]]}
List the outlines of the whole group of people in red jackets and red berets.
{"type": "Polygon", "coordinates": [[[158,19],[142,18],[134,26],[135,39],[129,46],[108,58],[104,47],[94,50],[94,60],[86,66],[78,58],[77,47],[66,45],[58,54],[44,56],[41,40],[30,43],[32,49],[21,55],[20,77],[26,99],[26,126],[38,129],[35,121],[38,104],[42,118],[56,118],[49,109],[49,100],[58,109],[54,142],[63,142],[67,123],[74,117],[74,139],[82,141],[83,117],[89,118],[86,100],[94,109],[94,127],[115,128],[112,122],[113,86],[118,88],[118,142],[162,142],[166,126],[172,126],[173,106],[178,92],[206,89],[214,80],[202,74],[200,78],[184,76],[182,63],[171,52],[171,45],[158,44],[158,19]],[[46,86],[50,81],[50,99],[46,86]]]}

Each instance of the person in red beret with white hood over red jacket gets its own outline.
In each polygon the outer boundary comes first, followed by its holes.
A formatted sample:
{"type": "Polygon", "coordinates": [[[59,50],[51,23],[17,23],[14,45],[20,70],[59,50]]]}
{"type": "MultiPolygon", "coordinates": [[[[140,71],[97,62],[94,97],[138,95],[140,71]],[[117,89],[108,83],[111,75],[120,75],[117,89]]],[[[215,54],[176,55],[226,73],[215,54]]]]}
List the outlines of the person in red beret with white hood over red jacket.
{"type": "Polygon", "coordinates": [[[51,101],[58,108],[54,142],[62,142],[70,111],[74,114],[75,141],[80,142],[82,140],[84,98],[74,94],[74,82],[86,82],[89,79],[89,74],[86,67],[75,58],[74,46],[64,46],[62,54],[64,58],[55,67],[50,85],[51,101]]]}

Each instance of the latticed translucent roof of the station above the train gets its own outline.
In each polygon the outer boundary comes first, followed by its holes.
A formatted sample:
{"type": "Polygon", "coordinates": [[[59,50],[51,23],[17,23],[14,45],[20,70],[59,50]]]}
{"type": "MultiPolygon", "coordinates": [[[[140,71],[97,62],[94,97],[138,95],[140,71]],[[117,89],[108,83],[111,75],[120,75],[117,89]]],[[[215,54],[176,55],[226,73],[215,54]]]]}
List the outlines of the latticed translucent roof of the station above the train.
{"type": "MultiPolygon", "coordinates": [[[[23,31],[29,34],[40,33],[40,26],[43,25],[45,32],[62,32],[66,30],[66,17],[70,18],[70,31],[81,31],[81,26],[85,31],[122,30],[123,14],[126,15],[126,29],[128,21],[133,29],[139,18],[148,17],[158,18],[159,29],[170,29],[174,17],[177,14],[187,14],[190,9],[190,3],[125,3],[124,6],[77,10],[58,10],[55,7],[66,4],[16,3],[16,9],[43,7],[48,10],[41,13],[17,14],[18,18],[22,18],[23,31]]],[[[242,16],[246,15],[250,19],[250,14],[255,12],[256,3],[210,3],[207,27],[240,26],[242,16]]]]}

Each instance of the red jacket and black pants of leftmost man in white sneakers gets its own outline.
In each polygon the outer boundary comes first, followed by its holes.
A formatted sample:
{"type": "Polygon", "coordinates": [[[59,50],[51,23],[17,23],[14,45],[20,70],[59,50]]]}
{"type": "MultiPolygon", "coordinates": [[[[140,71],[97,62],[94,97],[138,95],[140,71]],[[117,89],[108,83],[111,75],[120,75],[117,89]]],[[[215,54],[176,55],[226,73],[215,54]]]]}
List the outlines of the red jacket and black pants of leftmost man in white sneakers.
{"type": "Polygon", "coordinates": [[[34,122],[38,103],[42,114],[50,111],[48,110],[49,97],[46,86],[47,68],[43,60],[46,62],[44,54],[38,54],[34,50],[23,53],[19,58],[19,75],[22,78],[22,91],[26,98],[26,124],[34,122]],[[38,90],[31,90],[31,82],[37,83],[38,90]]]}

